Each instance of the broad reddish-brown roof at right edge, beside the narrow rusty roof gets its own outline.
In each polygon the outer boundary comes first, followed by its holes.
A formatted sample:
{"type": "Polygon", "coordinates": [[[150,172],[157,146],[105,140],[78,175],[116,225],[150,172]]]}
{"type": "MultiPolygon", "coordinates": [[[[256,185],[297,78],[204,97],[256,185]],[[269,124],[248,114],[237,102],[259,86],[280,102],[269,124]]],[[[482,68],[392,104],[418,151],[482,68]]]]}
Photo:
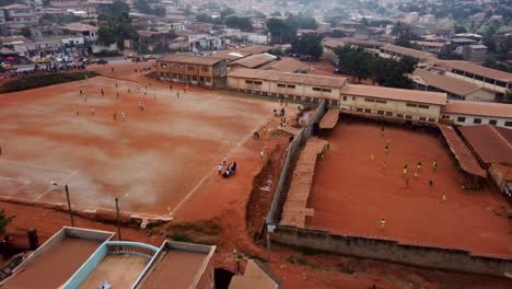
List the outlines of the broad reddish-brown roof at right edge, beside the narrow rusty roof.
{"type": "Polygon", "coordinates": [[[512,164],[512,130],[491,125],[462,126],[464,138],[485,163],[512,164]]]}

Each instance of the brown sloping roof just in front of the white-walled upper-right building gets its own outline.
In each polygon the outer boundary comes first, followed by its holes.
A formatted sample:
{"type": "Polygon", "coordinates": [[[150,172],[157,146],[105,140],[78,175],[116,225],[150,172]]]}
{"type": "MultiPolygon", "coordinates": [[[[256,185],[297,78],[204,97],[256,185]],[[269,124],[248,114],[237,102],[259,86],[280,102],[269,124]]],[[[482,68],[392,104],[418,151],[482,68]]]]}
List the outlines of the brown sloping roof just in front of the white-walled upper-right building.
{"type": "Polygon", "coordinates": [[[465,96],[480,89],[480,86],[470,82],[433,73],[419,68],[412,72],[412,76],[419,77],[428,86],[437,88],[461,96],[465,96]]]}

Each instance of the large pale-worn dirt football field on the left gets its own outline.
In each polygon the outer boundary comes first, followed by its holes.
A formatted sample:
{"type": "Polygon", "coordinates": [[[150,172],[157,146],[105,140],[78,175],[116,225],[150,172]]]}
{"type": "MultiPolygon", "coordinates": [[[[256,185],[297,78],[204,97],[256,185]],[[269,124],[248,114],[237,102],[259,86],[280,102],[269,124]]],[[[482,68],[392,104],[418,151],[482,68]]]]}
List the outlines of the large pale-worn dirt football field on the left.
{"type": "Polygon", "coordinates": [[[0,192],[62,203],[55,181],[69,185],[79,208],[114,208],[119,196],[125,211],[174,212],[271,115],[270,103],[254,99],[183,90],[177,97],[163,84],[144,95],[143,85],[97,77],[2,95],[0,192]]]}

